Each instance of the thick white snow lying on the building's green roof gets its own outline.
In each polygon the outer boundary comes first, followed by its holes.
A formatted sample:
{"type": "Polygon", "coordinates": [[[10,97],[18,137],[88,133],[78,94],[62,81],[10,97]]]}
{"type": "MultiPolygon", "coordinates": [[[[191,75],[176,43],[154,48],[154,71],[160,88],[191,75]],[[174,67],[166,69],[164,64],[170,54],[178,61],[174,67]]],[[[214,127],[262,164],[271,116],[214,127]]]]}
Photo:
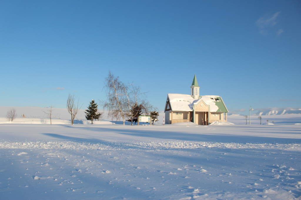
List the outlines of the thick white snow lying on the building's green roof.
{"type": "Polygon", "coordinates": [[[171,109],[175,111],[193,111],[193,104],[198,104],[203,100],[206,105],[210,105],[210,112],[216,112],[219,109],[216,102],[221,101],[221,99],[216,100],[216,97],[219,96],[205,95],[200,96],[199,99],[194,99],[188,94],[168,94],[171,109]]]}

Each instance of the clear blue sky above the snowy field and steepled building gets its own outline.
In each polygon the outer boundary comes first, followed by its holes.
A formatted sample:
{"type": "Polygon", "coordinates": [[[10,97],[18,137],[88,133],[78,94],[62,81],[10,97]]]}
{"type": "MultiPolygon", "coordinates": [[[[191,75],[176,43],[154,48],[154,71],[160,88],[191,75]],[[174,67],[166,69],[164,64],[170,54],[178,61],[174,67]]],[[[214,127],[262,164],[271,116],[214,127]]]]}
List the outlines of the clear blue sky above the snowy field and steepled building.
{"type": "Polygon", "coordinates": [[[300,36],[301,1],[2,0],[0,105],[85,109],[110,70],[159,110],[194,74],[230,112],[300,108],[300,36]]]}

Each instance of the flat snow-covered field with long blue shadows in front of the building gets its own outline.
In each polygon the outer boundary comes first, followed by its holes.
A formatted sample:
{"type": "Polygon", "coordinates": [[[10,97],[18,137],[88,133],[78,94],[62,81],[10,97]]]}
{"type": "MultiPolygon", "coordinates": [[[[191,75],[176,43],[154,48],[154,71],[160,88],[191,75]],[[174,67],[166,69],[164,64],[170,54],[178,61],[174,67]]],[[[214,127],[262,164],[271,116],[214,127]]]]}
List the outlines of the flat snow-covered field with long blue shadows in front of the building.
{"type": "Polygon", "coordinates": [[[253,117],[189,127],[3,122],[0,199],[301,199],[301,115],[262,116],[274,125],[253,117]]]}

